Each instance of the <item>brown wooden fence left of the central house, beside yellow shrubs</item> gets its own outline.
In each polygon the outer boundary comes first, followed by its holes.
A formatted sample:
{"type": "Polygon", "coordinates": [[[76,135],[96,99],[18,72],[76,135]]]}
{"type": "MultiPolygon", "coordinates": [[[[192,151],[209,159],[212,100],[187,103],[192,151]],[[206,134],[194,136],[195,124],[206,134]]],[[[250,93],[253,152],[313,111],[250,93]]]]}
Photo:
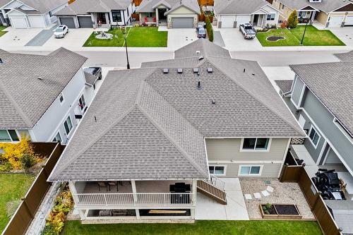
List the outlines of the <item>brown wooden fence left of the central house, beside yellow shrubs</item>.
{"type": "Polygon", "coordinates": [[[22,203],[20,203],[10,222],[8,222],[3,235],[25,234],[30,222],[35,217],[42,199],[51,186],[51,183],[47,182],[47,178],[65,147],[60,143],[33,143],[33,145],[35,152],[43,156],[49,156],[49,158],[40,171],[40,174],[37,175],[35,181],[32,183],[25,198],[22,198],[22,203]]]}

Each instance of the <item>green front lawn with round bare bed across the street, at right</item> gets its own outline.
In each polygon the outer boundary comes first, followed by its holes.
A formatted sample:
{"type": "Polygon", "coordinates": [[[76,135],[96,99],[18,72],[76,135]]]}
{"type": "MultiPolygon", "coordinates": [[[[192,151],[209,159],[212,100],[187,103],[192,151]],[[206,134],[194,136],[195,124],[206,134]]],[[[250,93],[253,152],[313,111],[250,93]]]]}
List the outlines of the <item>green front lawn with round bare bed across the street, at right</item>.
{"type": "MultiPolygon", "coordinates": [[[[292,47],[299,46],[301,37],[303,37],[305,25],[299,25],[297,28],[274,29],[268,32],[258,32],[256,37],[263,47],[292,47]],[[269,36],[282,36],[285,40],[269,42],[266,40],[269,36]]],[[[330,30],[318,30],[313,25],[308,25],[304,37],[304,46],[345,46],[345,44],[333,34],[330,30]]]]}

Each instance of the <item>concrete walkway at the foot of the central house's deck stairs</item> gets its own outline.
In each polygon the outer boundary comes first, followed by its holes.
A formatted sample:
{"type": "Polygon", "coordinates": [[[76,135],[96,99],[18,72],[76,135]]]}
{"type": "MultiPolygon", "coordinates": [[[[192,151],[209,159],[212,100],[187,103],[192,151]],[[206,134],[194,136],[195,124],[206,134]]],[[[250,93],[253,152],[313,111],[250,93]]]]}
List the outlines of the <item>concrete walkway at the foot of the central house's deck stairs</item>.
{"type": "Polygon", "coordinates": [[[238,178],[222,179],[225,181],[227,205],[198,193],[196,200],[196,219],[248,220],[249,215],[238,178]]]}

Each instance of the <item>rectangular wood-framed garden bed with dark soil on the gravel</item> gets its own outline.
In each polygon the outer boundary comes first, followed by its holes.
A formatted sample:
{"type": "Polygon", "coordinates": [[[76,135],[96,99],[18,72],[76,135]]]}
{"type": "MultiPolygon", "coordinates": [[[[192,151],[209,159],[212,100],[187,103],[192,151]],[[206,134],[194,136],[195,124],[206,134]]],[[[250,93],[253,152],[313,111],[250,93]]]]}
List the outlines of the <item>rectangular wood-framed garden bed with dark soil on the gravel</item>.
{"type": "Polygon", "coordinates": [[[260,204],[264,219],[301,219],[301,214],[295,204],[260,204]]]}

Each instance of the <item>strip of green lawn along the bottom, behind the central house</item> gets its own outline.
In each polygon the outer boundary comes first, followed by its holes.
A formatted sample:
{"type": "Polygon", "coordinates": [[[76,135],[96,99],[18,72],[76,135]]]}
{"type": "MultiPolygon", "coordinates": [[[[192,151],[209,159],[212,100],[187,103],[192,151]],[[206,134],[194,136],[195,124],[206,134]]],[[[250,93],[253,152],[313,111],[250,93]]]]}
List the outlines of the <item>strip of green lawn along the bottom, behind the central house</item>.
{"type": "Polygon", "coordinates": [[[67,221],[61,235],[321,235],[316,222],[199,220],[195,224],[80,224],[67,221]]]}

